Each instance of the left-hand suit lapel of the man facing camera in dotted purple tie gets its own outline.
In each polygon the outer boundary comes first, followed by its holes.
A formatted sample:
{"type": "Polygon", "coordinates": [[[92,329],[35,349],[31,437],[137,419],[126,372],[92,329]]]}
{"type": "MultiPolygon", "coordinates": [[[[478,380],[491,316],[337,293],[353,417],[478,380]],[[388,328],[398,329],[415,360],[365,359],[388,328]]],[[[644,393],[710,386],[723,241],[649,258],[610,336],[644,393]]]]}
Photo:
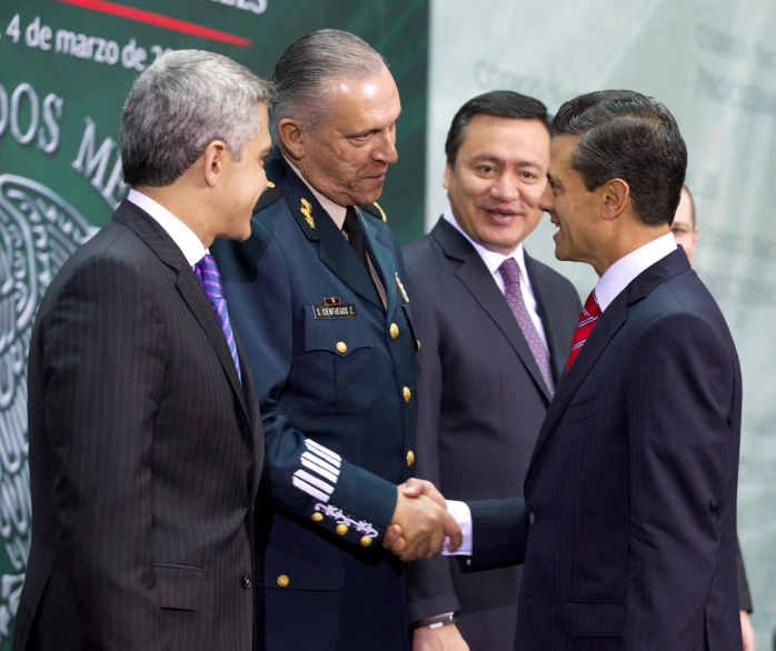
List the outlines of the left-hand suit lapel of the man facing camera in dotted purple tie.
{"type": "Polygon", "coordinates": [[[534,353],[517,324],[515,314],[511,313],[504,294],[498,289],[493,274],[482,262],[474,247],[461,236],[456,228],[440,218],[431,230],[431,237],[439,242],[445,252],[461,261],[456,270],[456,276],[471,292],[485,312],[494,320],[499,330],[515,349],[518,358],[536,382],[539,391],[549,403],[550,395],[545,384],[539,367],[534,359],[534,353]]]}

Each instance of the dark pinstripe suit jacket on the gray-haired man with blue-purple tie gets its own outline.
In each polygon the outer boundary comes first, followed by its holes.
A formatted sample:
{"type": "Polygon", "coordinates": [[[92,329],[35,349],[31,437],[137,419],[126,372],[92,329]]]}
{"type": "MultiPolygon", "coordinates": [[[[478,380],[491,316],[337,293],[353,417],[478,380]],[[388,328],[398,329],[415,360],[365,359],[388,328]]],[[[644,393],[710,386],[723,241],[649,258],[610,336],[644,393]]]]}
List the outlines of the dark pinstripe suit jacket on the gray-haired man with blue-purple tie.
{"type": "Polygon", "coordinates": [[[14,651],[252,649],[262,437],[242,373],[180,249],[123,202],[32,333],[14,651]]]}

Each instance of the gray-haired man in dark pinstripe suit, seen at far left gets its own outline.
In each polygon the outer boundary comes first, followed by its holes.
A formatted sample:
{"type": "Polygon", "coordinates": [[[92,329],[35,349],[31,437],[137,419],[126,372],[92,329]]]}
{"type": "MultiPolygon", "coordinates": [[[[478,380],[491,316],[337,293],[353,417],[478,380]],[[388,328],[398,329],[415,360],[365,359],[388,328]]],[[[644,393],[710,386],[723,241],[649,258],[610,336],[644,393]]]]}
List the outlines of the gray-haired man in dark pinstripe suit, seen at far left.
{"type": "Polygon", "coordinates": [[[269,86],[158,59],[121,122],[133,188],[64,264],[29,360],[32,548],[14,651],[251,651],[263,447],[216,237],[266,187],[269,86]]]}

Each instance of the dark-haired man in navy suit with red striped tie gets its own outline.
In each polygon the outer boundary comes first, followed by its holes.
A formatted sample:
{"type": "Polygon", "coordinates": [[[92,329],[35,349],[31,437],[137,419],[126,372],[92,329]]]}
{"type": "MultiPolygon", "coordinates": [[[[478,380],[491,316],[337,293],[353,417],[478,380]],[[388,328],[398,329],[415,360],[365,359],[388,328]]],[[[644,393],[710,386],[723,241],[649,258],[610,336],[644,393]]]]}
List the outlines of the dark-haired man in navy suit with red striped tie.
{"type": "Polygon", "coordinates": [[[663,106],[630,91],[566,102],[551,133],[540,207],[558,227],[556,256],[600,278],[525,500],[468,503],[466,565],[525,559],[519,651],[740,650],[742,377],[725,319],[670,233],[685,143],[663,106]]]}

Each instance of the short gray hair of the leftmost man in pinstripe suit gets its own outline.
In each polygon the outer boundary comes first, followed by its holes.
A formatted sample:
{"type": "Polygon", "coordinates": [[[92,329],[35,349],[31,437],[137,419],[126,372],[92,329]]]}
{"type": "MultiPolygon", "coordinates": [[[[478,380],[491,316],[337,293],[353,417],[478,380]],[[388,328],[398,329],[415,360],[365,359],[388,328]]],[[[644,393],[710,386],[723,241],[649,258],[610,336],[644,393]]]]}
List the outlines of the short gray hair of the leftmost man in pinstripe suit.
{"type": "Polygon", "coordinates": [[[121,116],[121,161],[130,186],[173,183],[222,140],[237,161],[261,127],[271,86],[221,54],[168,52],[135,82],[121,116]]]}

